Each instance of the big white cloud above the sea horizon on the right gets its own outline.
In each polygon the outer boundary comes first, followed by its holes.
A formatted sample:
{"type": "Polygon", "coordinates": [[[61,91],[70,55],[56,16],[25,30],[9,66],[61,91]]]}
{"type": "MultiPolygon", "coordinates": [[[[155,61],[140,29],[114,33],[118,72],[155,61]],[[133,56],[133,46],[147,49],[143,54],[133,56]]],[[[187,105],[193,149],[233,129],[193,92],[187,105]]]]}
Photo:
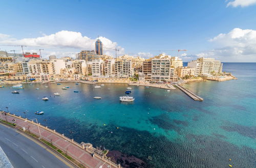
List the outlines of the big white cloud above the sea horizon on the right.
{"type": "Polygon", "coordinates": [[[256,31],[233,29],[209,40],[216,49],[196,54],[198,57],[212,57],[226,62],[256,61],[256,31]]]}

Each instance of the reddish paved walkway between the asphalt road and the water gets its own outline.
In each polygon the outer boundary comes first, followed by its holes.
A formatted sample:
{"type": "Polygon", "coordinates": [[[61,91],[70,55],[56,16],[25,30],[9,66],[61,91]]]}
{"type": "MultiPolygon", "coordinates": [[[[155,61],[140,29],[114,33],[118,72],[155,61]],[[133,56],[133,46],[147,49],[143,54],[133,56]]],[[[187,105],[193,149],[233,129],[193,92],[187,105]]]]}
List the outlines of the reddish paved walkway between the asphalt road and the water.
{"type": "MultiPolygon", "coordinates": [[[[38,131],[38,127],[33,123],[30,122],[25,122],[24,119],[20,119],[19,117],[14,117],[12,115],[8,115],[4,116],[2,114],[2,118],[3,120],[6,120],[10,123],[13,123],[13,119],[16,120],[16,125],[18,127],[25,127],[26,130],[29,130],[31,133],[34,133],[36,135],[39,136],[39,131],[38,131]]],[[[91,153],[93,152],[93,150],[88,149],[88,151],[86,149],[82,149],[81,147],[79,147],[80,144],[75,145],[75,142],[72,143],[70,141],[67,140],[67,137],[63,138],[61,136],[59,136],[59,133],[54,133],[52,131],[41,128],[42,126],[39,126],[39,130],[41,133],[41,136],[43,139],[46,139],[48,142],[52,142],[52,144],[54,146],[56,146],[57,148],[59,148],[61,151],[67,153],[68,155],[70,155],[71,157],[73,157],[74,159],[76,159],[77,161],[79,161],[80,163],[82,163],[83,165],[87,166],[87,167],[99,167],[100,165],[103,165],[102,167],[110,167],[110,162],[107,161],[106,159],[101,159],[99,157],[99,155],[96,156],[96,153],[94,155],[94,157],[92,157],[91,153]],[[105,163],[104,163],[105,162],[105,163]]],[[[55,130],[54,130],[55,131],[55,130]]],[[[61,135],[61,134],[60,134],[61,135]]],[[[63,136],[63,134],[62,134],[63,136]]],[[[73,141],[72,139],[70,139],[71,141],[73,141]]],[[[91,147],[92,148],[92,147],[91,147]]],[[[111,162],[111,167],[118,167],[118,165],[114,164],[113,162],[111,162]]]]}

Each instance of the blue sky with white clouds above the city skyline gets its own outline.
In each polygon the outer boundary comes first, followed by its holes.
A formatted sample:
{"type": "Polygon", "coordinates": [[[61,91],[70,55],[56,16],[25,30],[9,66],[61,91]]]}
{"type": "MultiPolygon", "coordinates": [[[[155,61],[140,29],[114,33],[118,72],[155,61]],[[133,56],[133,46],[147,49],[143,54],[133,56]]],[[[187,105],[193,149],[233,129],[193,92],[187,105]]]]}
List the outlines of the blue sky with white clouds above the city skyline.
{"type": "Polygon", "coordinates": [[[256,62],[256,0],[0,2],[0,50],[74,57],[99,38],[104,54],[150,58],[165,52],[256,62]],[[12,46],[13,45],[13,46],[12,46]]]}

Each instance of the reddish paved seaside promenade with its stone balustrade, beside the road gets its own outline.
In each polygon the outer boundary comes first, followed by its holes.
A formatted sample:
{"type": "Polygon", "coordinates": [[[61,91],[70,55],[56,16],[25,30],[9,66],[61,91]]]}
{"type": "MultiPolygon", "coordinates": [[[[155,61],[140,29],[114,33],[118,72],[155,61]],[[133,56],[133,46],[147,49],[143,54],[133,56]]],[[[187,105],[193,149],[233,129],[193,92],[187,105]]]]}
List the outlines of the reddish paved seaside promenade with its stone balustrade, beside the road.
{"type": "Polygon", "coordinates": [[[55,130],[42,126],[40,123],[37,124],[33,120],[30,121],[10,113],[7,113],[5,116],[3,113],[4,111],[0,112],[0,118],[2,120],[7,120],[8,122],[13,123],[13,119],[15,119],[17,128],[25,128],[27,131],[36,134],[39,137],[41,136],[42,139],[45,139],[86,167],[121,167],[120,164],[115,164],[106,156],[98,154],[102,153],[102,151],[95,149],[90,143],[78,144],[73,139],[66,137],[64,134],[60,134],[55,130]]]}

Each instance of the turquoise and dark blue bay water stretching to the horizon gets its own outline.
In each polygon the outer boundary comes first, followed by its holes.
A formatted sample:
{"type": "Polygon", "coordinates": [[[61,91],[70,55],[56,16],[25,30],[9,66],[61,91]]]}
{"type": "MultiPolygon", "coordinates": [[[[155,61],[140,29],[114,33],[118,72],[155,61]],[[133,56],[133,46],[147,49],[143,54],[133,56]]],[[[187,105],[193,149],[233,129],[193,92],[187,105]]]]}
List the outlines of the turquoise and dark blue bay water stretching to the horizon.
{"type": "Polygon", "coordinates": [[[133,155],[146,167],[256,167],[256,63],[224,63],[223,71],[238,79],[184,85],[202,102],[178,89],[137,86],[134,102],[119,102],[127,85],[55,83],[24,85],[20,94],[0,88],[0,109],[23,117],[25,111],[79,143],[133,155]],[[34,115],[37,110],[45,114],[34,115]]]}

